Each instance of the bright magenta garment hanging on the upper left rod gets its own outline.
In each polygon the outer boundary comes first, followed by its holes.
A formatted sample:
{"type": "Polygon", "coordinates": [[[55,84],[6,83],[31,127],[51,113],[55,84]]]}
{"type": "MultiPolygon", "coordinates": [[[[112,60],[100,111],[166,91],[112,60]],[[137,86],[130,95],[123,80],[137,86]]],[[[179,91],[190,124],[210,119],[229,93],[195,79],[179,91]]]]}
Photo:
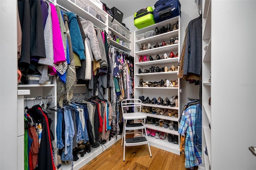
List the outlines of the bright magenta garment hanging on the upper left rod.
{"type": "Polygon", "coordinates": [[[52,37],[53,37],[53,55],[54,55],[54,64],[62,63],[66,61],[64,46],[62,42],[61,32],[60,32],[60,24],[58,20],[58,15],[56,12],[56,8],[53,4],[51,6],[51,14],[52,14],[52,37]]]}

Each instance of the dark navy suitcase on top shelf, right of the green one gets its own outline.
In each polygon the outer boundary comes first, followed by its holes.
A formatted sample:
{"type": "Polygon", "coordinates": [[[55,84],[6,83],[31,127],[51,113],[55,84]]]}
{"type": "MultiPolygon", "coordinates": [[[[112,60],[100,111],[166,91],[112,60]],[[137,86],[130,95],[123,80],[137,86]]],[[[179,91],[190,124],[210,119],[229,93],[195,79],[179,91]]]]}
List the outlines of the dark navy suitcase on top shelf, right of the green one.
{"type": "Polygon", "coordinates": [[[154,4],[154,20],[156,23],[179,16],[180,12],[179,0],[158,0],[154,4]]]}

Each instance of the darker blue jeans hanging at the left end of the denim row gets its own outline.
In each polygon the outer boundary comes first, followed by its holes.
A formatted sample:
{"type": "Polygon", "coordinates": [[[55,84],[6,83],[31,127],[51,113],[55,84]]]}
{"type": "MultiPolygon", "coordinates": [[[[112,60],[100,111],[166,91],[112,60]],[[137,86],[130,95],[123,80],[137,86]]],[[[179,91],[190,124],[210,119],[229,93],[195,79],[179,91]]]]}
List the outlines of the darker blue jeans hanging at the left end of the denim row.
{"type": "Polygon", "coordinates": [[[57,112],[57,126],[56,126],[56,136],[57,136],[57,148],[61,149],[64,147],[63,141],[62,141],[62,110],[58,110],[57,112]]]}

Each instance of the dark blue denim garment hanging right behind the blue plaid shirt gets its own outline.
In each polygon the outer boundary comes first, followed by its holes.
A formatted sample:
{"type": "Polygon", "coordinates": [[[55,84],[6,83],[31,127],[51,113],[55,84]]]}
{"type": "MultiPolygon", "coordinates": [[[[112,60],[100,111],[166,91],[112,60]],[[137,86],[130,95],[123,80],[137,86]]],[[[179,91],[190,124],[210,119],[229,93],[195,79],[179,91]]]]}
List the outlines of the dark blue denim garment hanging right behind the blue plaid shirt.
{"type": "Polygon", "coordinates": [[[199,103],[196,105],[195,131],[194,144],[202,148],[202,108],[199,103]]]}

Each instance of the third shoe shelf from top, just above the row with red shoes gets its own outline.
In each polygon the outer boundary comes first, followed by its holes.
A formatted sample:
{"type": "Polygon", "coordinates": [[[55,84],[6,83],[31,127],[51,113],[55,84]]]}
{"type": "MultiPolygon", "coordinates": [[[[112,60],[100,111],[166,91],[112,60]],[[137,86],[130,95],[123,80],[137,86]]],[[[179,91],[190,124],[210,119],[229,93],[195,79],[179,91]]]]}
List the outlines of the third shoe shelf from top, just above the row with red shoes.
{"type": "MultiPolygon", "coordinates": [[[[159,55],[161,54],[162,55],[164,53],[169,55],[171,51],[177,52],[178,51],[178,46],[179,46],[179,43],[175,43],[175,44],[172,44],[172,45],[165,45],[163,47],[157,47],[157,48],[137,51],[137,52],[135,52],[135,54],[138,54],[138,55],[151,55],[152,57],[153,57],[153,55],[157,55],[157,54],[159,54],[159,55]]],[[[160,57],[161,57],[161,55],[160,55],[160,57]]]]}

